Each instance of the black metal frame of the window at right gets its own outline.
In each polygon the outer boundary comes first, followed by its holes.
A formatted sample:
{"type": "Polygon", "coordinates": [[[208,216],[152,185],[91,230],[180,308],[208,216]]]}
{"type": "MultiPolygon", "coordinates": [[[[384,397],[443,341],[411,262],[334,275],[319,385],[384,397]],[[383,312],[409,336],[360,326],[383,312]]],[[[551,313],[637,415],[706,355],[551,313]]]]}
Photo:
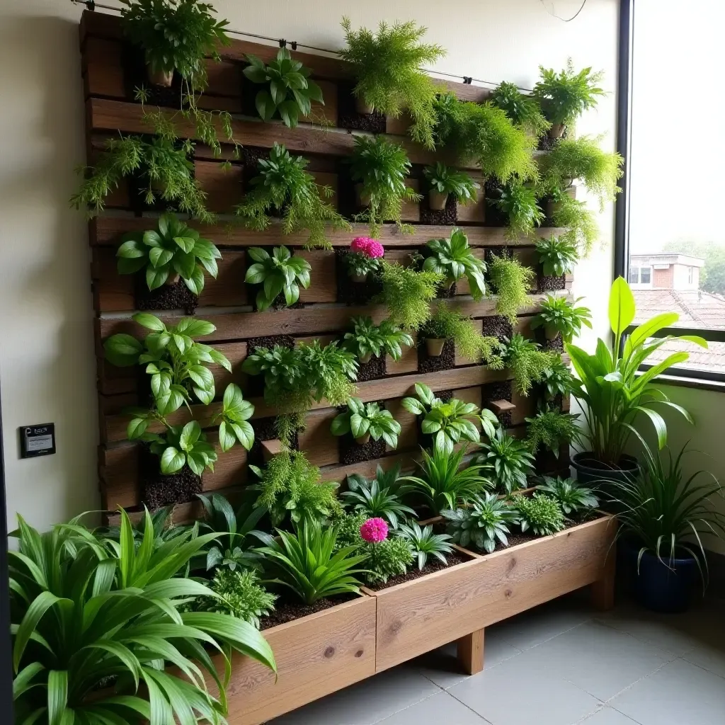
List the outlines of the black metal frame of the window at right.
{"type": "MultiPolygon", "coordinates": [[[[618,107],[617,107],[617,151],[625,159],[624,176],[615,207],[614,236],[614,276],[629,279],[629,209],[630,183],[629,159],[631,159],[631,117],[633,101],[632,71],[634,68],[634,13],[635,0],[620,0],[619,4],[619,69],[618,69],[618,107]]],[[[631,331],[634,326],[629,329],[631,331]]],[[[697,335],[708,342],[725,342],[725,330],[707,328],[671,327],[660,330],[655,337],[667,335],[697,335]]],[[[642,365],[647,370],[651,365],[642,365]]],[[[668,383],[677,381],[714,381],[725,383],[725,373],[692,368],[670,368],[667,372],[668,383]]]]}

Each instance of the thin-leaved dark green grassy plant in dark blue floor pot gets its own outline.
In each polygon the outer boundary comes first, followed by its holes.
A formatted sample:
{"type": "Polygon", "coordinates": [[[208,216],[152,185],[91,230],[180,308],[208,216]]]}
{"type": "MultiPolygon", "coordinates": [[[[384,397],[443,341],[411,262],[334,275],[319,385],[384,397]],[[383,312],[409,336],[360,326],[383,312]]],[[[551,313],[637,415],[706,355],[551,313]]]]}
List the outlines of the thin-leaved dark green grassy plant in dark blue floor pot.
{"type": "Polygon", "coordinates": [[[618,511],[621,556],[639,602],[659,612],[687,609],[697,579],[708,581],[701,534],[725,538],[725,514],[718,510],[723,487],[712,473],[682,472],[685,446],[668,460],[646,445],[637,473],[613,481],[610,503],[618,511]]]}

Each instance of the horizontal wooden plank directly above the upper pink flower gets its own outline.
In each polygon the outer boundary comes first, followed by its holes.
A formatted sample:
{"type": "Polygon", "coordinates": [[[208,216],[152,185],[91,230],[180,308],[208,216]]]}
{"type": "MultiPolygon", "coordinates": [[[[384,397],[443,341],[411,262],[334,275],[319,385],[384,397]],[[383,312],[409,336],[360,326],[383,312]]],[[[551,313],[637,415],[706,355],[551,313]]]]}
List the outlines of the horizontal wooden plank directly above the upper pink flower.
{"type": "MultiPolygon", "coordinates": [[[[128,206],[128,204],[125,204],[128,206]]],[[[120,236],[127,231],[144,231],[149,222],[144,218],[101,216],[95,217],[88,222],[88,238],[94,247],[111,246],[117,247],[120,236]]],[[[220,222],[218,224],[199,224],[194,222],[194,228],[207,239],[223,247],[265,247],[279,246],[285,244],[287,247],[302,247],[307,241],[308,234],[283,235],[281,224],[273,220],[269,228],[263,232],[254,232],[245,229],[239,224],[220,222]]],[[[383,225],[380,241],[388,247],[421,247],[431,239],[442,239],[451,234],[452,227],[436,225],[419,225],[415,233],[401,235],[394,224],[383,225]]],[[[537,234],[540,237],[547,237],[550,234],[560,234],[563,230],[559,228],[540,228],[537,234]]],[[[328,239],[334,247],[349,247],[350,241],[355,236],[368,236],[367,224],[353,224],[352,232],[335,231],[328,233],[328,239]]],[[[468,244],[471,247],[501,247],[507,245],[530,247],[531,239],[521,237],[515,241],[508,241],[505,238],[505,228],[502,227],[468,227],[465,229],[468,235],[468,244]]]]}

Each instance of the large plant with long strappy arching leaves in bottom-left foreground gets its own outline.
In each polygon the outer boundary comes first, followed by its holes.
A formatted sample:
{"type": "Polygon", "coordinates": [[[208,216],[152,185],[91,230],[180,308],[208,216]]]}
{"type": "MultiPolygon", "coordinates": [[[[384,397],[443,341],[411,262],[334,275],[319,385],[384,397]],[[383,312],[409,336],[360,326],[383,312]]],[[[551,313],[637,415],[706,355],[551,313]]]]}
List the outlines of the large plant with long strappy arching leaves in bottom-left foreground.
{"type": "Polygon", "coordinates": [[[88,531],[80,517],[45,534],[18,521],[19,550],[8,552],[18,723],[224,724],[228,677],[210,651],[227,671],[231,650],[276,669],[247,622],[179,611],[187,597],[215,597],[175,574],[216,534],[192,539],[188,531],[155,546],[148,511],[138,547],[124,510],[119,542],[88,531]]]}

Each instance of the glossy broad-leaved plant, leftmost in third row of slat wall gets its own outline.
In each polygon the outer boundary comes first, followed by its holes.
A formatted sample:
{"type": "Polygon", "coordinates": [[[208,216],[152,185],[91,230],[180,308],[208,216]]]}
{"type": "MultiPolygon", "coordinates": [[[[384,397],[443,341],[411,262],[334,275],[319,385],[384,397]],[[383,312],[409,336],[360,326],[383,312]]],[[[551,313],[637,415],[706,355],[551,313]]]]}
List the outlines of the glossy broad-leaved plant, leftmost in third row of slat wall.
{"type": "Polygon", "coordinates": [[[181,277],[196,295],[204,289],[204,269],[212,277],[217,276],[217,260],[221,256],[212,242],[202,239],[196,229],[170,213],[159,217],[158,231],[124,234],[116,252],[119,274],[133,274],[146,268],[149,289],[174,284],[181,277]]]}

